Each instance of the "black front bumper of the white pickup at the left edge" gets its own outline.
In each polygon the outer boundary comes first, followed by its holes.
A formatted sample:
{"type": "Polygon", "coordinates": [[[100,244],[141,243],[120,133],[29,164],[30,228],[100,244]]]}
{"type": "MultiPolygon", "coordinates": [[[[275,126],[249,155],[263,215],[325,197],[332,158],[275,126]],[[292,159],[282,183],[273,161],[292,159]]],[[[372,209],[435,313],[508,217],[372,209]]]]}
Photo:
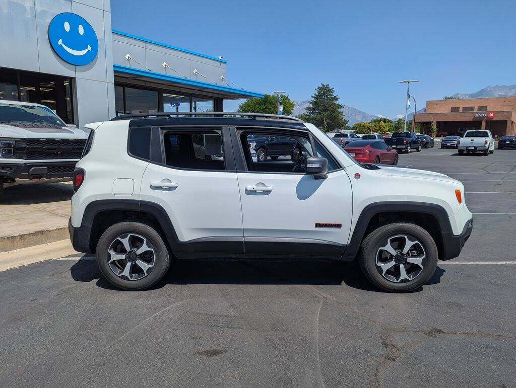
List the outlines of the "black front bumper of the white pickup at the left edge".
{"type": "Polygon", "coordinates": [[[41,179],[73,177],[77,161],[9,163],[0,159],[0,179],[41,179]]]}

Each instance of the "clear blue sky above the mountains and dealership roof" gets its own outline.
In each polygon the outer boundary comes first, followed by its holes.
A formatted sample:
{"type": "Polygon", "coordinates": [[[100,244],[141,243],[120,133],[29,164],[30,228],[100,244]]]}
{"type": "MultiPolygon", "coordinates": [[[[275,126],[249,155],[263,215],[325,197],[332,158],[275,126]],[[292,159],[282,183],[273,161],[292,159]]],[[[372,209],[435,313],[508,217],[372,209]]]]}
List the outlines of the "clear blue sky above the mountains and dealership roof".
{"type": "MultiPolygon", "coordinates": [[[[516,2],[111,0],[112,27],[228,60],[245,89],[341,103],[392,118],[402,79],[427,99],[516,83],[516,2]]],[[[231,104],[224,109],[232,108],[231,104]]]]}

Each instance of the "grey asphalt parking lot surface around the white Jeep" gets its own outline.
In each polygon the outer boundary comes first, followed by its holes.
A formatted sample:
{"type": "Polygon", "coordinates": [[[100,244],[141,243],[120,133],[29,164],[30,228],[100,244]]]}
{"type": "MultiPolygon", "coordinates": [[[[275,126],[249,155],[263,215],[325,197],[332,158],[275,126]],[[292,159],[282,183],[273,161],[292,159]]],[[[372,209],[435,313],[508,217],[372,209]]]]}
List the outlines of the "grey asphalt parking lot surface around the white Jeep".
{"type": "Polygon", "coordinates": [[[0,273],[0,385],[514,386],[516,150],[400,155],[461,180],[474,229],[423,289],[353,264],[186,261],[118,291],[80,255],[0,273]]]}

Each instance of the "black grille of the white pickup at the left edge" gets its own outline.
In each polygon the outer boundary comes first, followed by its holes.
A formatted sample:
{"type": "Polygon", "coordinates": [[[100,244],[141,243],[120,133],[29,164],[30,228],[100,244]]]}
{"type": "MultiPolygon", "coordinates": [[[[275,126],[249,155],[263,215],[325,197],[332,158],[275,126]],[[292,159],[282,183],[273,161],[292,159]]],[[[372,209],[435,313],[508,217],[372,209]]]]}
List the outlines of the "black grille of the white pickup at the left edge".
{"type": "Polygon", "coordinates": [[[79,159],[86,139],[24,139],[14,143],[15,159],[79,159]]]}

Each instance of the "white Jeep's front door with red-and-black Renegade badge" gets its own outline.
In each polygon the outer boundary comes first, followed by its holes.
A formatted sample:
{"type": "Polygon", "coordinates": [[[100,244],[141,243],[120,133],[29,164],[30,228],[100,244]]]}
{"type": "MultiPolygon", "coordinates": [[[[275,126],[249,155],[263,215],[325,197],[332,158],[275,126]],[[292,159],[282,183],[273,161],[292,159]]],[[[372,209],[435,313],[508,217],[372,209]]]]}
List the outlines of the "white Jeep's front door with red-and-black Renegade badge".
{"type": "MultiPolygon", "coordinates": [[[[235,130],[242,153],[246,133],[235,130]]],[[[308,139],[300,140],[297,135],[292,137],[312,155],[308,139]]],[[[266,166],[250,158],[244,162],[244,171],[237,172],[246,255],[342,255],[351,223],[351,184],[328,151],[315,145],[315,153],[329,162],[325,179],[303,172],[261,171],[266,166]]]]}

